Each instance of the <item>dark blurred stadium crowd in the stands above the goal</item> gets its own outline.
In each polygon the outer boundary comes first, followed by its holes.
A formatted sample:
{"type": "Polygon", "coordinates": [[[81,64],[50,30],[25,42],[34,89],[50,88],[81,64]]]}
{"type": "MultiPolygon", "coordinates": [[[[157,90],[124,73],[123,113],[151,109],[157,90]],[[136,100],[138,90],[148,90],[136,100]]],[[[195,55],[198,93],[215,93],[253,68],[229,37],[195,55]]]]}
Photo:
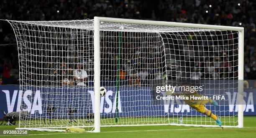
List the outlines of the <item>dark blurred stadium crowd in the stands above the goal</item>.
{"type": "MultiPolygon", "coordinates": [[[[256,80],[255,7],[255,3],[250,0],[2,0],[0,19],[77,20],[103,16],[240,26],[245,28],[244,79],[256,80]]],[[[0,77],[3,78],[3,84],[18,83],[16,45],[5,45],[15,43],[16,39],[10,25],[0,20],[0,77]]],[[[229,59],[222,60],[228,61],[229,59]]],[[[172,63],[173,66],[175,63],[172,63]]],[[[232,63],[225,65],[225,67],[230,66],[233,66],[232,63]]],[[[205,72],[204,78],[214,78],[210,77],[210,70],[203,71],[205,72]],[[205,77],[206,75],[209,77],[205,77]]],[[[140,76],[131,73],[130,77],[134,82],[130,83],[140,85],[138,78],[146,79],[144,74],[148,74],[147,70],[138,70],[138,72],[140,76]]],[[[218,72],[218,70],[213,69],[213,72],[218,72]]],[[[125,74],[125,72],[121,73],[125,74]]],[[[88,74],[90,76],[90,73],[88,74]]],[[[237,77],[237,74],[233,75],[232,77],[237,77]]]]}

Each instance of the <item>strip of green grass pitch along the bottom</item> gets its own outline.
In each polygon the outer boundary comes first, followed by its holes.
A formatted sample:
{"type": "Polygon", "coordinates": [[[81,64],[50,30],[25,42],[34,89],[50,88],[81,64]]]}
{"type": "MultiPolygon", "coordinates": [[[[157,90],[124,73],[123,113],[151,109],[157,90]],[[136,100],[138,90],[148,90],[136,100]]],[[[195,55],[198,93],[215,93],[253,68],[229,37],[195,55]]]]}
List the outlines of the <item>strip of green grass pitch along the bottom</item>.
{"type": "Polygon", "coordinates": [[[28,135],[3,135],[2,130],[15,126],[0,126],[0,138],[256,138],[256,116],[244,117],[244,128],[207,128],[174,125],[102,127],[101,133],[65,133],[29,131],[28,135]]]}

